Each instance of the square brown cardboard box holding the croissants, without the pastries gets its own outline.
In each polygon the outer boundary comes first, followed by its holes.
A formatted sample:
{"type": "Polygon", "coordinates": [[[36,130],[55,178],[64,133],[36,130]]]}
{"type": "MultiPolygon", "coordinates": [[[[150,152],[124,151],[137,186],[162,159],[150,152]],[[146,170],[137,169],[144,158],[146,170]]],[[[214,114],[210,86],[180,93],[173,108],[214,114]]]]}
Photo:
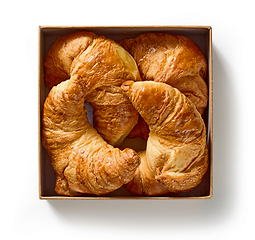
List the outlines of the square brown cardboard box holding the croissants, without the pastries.
{"type": "Polygon", "coordinates": [[[39,198],[40,199],[210,199],[213,195],[213,77],[212,77],[212,28],[210,26],[123,26],[123,27],[39,27],[39,198]],[[204,113],[207,127],[207,142],[209,145],[210,165],[203,181],[190,192],[170,193],[160,197],[140,197],[131,194],[124,187],[104,196],[87,195],[83,197],[59,196],[55,191],[55,174],[50,158],[41,144],[41,112],[49,89],[44,83],[43,60],[52,44],[64,35],[76,31],[92,31],[113,40],[136,37],[144,32],[168,32],[184,35],[192,39],[204,53],[208,61],[206,82],[209,89],[208,107],[204,113]]]}

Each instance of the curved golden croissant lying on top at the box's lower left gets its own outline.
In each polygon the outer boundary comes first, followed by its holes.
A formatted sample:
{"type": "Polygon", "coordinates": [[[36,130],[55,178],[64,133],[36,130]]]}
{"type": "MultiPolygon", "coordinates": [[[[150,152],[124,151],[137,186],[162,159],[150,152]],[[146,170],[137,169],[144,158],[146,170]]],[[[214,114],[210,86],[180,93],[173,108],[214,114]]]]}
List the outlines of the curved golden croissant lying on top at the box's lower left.
{"type": "Polygon", "coordinates": [[[134,150],[114,148],[90,125],[85,93],[81,81],[66,80],[51,89],[43,107],[43,145],[61,195],[109,193],[128,183],[140,164],[134,150]]]}

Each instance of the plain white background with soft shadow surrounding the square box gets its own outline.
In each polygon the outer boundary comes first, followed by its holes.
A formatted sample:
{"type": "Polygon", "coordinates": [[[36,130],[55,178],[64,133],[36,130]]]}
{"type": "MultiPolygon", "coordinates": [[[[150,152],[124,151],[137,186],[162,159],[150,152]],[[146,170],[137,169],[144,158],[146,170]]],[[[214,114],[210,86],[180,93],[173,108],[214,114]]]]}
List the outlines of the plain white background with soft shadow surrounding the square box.
{"type": "Polygon", "coordinates": [[[239,1],[6,1],[1,5],[0,231],[3,239],[254,237],[254,5],[239,1]],[[210,25],[211,200],[38,198],[39,25],[210,25]]]}

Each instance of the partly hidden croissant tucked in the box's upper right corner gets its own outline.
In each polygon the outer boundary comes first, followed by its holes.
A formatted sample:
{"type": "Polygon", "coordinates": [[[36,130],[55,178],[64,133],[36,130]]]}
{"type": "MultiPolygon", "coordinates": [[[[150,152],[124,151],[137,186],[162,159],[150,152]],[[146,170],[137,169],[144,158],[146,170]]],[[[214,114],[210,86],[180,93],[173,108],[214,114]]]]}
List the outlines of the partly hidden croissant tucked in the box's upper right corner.
{"type": "Polygon", "coordinates": [[[120,44],[134,57],[143,80],[163,82],[179,89],[204,112],[208,102],[206,59],[188,37],[144,33],[120,44]]]}

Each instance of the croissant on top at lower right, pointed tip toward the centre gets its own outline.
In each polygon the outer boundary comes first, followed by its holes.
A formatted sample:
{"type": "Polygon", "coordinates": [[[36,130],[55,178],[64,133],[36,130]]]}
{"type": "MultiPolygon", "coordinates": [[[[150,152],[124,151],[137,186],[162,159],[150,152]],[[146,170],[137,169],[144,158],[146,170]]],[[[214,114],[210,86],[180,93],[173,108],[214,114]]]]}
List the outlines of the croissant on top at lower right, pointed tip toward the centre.
{"type": "Polygon", "coordinates": [[[137,195],[189,191],[208,168],[206,127],[195,105],[178,89],[154,81],[122,85],[148,124],[146,151],[126,187],[137,195]]]}

